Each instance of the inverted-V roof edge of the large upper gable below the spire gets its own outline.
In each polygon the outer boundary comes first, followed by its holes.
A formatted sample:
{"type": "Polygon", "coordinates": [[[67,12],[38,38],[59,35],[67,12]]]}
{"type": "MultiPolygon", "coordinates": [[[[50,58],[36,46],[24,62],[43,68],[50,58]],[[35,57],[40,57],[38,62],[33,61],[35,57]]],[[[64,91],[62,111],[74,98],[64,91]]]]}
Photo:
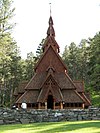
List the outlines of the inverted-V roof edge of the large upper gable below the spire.
{"type": "Polygon", "coordinates": [[[55,52],[54,48],[52,47],[52,45],[49,45],[48,49],[44,52],[44,54],[41,56],[40,60],[38,61],[38,63],[35,66],[35,71],[36,68],[39,66],[39,64],[41,63],[41,61],[44,59],[45,55],[48,53],[49,49],[52,49],[53,52],[55,53],[55,56],[57,56],[58,60],[62,63],[63,67],[65,68],[65,70],[67,70],[67,67],[65,66],[64,62],[62,61],[61,57],[59,56],[59,54],[57,52],[55,52]]]}

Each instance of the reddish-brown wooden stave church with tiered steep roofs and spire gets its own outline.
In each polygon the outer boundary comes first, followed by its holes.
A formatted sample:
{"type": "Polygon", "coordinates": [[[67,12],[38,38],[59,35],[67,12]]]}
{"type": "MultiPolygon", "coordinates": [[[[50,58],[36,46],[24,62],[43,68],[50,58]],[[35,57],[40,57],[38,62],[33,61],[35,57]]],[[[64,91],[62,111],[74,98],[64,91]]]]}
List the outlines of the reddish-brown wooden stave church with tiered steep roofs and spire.
{"type": "Polygon", "coordinates": [[[69,77],[59,56],[51,15],[43,55],[35,66],[35,74],[29,82],[22,82],[14,95],[18,108],[23,102],[31,109],[88,108],[91,105],[83,81],[73,81],[69,77]]]}

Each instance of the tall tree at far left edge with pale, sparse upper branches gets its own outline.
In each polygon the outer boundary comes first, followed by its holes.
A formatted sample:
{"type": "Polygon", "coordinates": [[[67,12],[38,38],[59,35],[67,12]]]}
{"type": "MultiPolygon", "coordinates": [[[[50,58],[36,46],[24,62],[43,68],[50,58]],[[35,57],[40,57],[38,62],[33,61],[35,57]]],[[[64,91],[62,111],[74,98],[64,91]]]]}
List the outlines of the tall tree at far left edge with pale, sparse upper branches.
{"type": "Polygon", "coordinates": [[[3,84],[1,95],[3,105],[10,101],[14,85],[16,85],[14,82],[16,69],[12,69],[12,64],[16,64],[15,58],[19,58],[19,54],[16,42],[11,36],[14,25],[10,21],[14,10],[12,0],[0,1],[0,82],[3,84]]]}

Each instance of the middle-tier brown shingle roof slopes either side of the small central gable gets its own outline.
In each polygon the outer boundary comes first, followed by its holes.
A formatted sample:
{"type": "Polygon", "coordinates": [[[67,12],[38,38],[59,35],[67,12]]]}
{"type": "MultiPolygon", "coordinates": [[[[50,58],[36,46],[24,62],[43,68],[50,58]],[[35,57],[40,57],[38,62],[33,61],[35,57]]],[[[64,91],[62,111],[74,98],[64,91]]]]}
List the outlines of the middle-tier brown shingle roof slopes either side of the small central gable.
{"type": "MultiPolygon", "coordinates": [[[[45,82],[47,75],[48,72],[36,73],[25,89],[40,89],[45,82]]],[[[53,77],[61,89],[76,89],[76,86],[67,74],[54,72],[53,77]]]]}

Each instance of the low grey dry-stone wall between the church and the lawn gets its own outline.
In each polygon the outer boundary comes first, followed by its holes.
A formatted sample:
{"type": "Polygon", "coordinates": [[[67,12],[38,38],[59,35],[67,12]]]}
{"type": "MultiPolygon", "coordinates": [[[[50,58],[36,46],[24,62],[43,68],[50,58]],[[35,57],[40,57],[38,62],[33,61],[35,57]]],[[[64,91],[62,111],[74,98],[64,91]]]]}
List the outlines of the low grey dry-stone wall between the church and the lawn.
{"type": "Polygon", "coordinates": [[[0,125],[78,120],[100,120],[100,108],[67,110],[14,110],[0,108],[0,125]]]}

